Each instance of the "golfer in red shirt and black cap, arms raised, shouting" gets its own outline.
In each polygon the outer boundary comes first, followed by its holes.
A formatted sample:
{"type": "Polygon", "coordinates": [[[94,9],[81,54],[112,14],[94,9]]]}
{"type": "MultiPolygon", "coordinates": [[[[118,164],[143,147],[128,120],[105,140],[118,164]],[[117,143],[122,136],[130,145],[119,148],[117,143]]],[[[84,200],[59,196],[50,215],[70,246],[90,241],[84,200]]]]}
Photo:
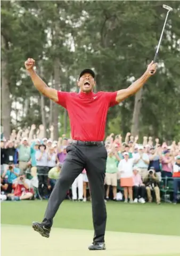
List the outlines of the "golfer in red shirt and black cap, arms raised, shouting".
{"type": "Polygon", "coordinates": [[[80,91],[75,93],[48,87],[36,74],[34,59],[28,59],[24,65],[37,90],[68,110],[72,133],[72,143],[67,147],[68,154],[48,201],[43,222],[33,222],[32,228],[44,237],[50,236],[53,218],[66,197],[67,190],[86,169],[91,189],[94,225],[93,243],[88,249],[105,250],[107,212],[104,203],[104,178],[107,150],[103,139],[108,109],[140,90],[148,78],[156,73],[157,65],[152,61],[145,73],[127,89],[97,93],[93,92],[95,74],[91,69],[81,71],[77,82],[80,91]]]}

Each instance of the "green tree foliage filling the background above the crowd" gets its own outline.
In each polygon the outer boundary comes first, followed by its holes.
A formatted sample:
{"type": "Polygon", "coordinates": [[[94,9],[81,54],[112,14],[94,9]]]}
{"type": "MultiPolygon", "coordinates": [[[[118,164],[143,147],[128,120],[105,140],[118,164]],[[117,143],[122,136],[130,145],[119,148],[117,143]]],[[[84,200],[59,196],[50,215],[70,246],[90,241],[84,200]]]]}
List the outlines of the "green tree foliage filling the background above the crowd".
{"type": "MultiPolygon", "coordinates": [[[[160,46],[158,72],[143,87],[138,131],[140,137],[173,140],[180,139],[180,5],[178,1],[166,4],[174,11],[160,46]]],[[[44,81],[58,90],[77,90],[76,79],[86,67],[95,70],[98,91],[129,86],[153,59],[166,17],[161,5],[161,1],[1,2],[5,40],[1,50],[11,94],[9,125],[42,123],[40,95],[23,67],[28,57],[36,60],[38,71],[43,70],[44,81]]],[[[47,128],[61,122],[58,127],[63,133],[63,126],[69,125],[64,110],[53,105],[51,118],[50,100],[44,104],[47,128]]],[[[134,97],[110,109],[107,132],[129,131],[133,110],[134,97]]]]}

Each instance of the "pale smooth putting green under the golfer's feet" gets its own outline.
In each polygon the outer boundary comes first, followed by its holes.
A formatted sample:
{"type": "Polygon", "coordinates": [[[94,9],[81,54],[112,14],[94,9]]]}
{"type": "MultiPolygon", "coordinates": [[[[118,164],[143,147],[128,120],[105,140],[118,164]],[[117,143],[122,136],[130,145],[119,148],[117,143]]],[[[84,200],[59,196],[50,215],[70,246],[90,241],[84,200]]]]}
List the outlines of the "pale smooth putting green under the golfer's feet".
{"type": "Polygon", "coordinates": [[[1,226],[1,255],[14,256],[178,256],[180,237],[107,231],[106,251],[88,251],[93,231],[53,228],[50,238],[41,237],[30,226],[1,226]]]}

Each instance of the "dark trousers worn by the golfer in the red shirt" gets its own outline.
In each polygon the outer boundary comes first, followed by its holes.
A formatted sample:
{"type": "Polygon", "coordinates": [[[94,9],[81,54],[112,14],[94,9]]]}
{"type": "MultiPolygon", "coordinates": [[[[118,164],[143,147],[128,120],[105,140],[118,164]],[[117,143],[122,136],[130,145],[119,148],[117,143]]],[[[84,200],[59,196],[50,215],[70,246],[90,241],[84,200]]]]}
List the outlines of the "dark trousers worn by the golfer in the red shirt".
{"type": "Polygon", "coordinates": [[[56,181],[48,201],[43,224],[53,225],[53,218],[66,197],[69,187],[78,175],[86,169],[92,196],[94,242],[104,242],[107,212],[104,203],[104,178],[107,150],[104,146],[69,145],[67,157],[62,165],[60,178],[56,181]]]}

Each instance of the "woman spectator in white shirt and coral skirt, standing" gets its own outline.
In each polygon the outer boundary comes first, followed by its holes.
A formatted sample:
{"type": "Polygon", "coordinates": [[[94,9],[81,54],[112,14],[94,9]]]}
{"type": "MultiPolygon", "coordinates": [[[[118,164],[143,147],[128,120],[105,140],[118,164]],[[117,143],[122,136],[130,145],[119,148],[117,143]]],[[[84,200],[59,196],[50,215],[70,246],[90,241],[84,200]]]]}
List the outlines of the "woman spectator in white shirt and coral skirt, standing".
{"type": "Polygon", "coordinates": [[[129,159],[129,153],[124,153],[124,159],[122,159],[118,165],[120,172],[120,186],[124,188],[125,203],[128,202],[128,194],[130,203],[133,203],[133,163],[134,159],[129,159]]]}

